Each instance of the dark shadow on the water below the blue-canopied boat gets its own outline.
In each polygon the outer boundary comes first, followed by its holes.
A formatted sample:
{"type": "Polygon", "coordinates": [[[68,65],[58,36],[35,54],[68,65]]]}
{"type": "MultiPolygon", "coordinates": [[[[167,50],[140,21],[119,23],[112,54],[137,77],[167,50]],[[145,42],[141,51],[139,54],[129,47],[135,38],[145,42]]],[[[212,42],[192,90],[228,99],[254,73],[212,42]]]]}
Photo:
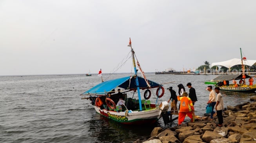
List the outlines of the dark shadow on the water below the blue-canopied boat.
{"type": "Polygon", "coordinates": [[[151,131],[155,125],[125,125],[108,118],[95,114],[91,120],[84,122],[86,127],[89,127],[90,134],[86,134],[91,139],[91,142],[109,143],[132,143],[138,138],[149,138],[151,131]],[[118,136],[117,136],[118,135],[118,136]]]}

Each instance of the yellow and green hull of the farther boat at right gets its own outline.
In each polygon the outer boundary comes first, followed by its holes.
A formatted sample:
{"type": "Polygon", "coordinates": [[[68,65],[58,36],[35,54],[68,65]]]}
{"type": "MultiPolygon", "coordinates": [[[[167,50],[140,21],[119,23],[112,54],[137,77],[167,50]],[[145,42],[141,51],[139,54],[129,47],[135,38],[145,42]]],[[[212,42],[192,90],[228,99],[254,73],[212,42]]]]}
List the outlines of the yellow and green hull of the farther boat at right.
{"type": "Polygon", "coordinates": [[[236,92],[255,92],[256,91],[256,84],[252,86],[244,85],[244,86],[238,86],[234,87],[232,86],[219,86],[220,90],[225,91],[236,91],[236,92]]]}

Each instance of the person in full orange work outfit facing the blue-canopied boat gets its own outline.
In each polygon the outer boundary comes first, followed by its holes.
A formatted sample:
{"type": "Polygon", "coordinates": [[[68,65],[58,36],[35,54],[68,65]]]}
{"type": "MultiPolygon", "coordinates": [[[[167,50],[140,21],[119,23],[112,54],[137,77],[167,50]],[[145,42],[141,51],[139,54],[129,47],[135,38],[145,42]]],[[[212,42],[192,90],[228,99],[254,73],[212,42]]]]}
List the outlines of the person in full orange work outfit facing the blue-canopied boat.
{"type": "Polygon", "coordinates": [[[182,95],[178,96],[178,100],[180,101],[180,112],[178,117],[178,126],[182,124],[185,119],[185,116],[189,116],[191,118],[191,122],[194,122],[194,106],[188,94],[184,92],[182,95]]]}

